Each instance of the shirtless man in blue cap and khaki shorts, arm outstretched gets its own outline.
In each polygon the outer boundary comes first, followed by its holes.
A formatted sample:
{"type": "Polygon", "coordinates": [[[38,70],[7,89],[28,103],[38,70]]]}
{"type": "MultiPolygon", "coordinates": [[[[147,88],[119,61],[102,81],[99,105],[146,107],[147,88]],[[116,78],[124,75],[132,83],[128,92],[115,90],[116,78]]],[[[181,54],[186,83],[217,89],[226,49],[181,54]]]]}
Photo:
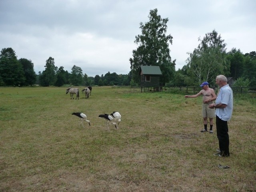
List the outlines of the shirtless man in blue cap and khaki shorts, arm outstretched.
{"type": "Polygon", "coordinates": [[[213,118],[215,117],[214,108],[209,108],[209,105],[212,104],[212,101],[216,100],[217,96],[212,88],[209,88],[208,82],[203,82],[200,87],[202,90],[196,95],[185,95],[185,98],[195,98],[200,95],[203,95],[203,104],[202,104],[202,116],[204,118],[204,129],[201,132],[207,132],[207,118],[210,120],[210,133],[213,133],[213,118]]]}

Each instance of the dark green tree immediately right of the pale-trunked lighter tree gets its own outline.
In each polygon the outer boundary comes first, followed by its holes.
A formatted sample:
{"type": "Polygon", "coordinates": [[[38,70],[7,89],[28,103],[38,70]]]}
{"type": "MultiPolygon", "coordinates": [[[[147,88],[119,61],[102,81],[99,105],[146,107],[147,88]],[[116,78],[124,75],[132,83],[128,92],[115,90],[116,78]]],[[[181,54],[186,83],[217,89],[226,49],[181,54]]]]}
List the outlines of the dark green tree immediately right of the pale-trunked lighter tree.
{"type": "Polygon", "coordinates": [[[235,80],[242,77],[244,72],[244,55],[240,49],[232,48],[228,52],[227,59],[230,61],[230,76],[235,80]]]}

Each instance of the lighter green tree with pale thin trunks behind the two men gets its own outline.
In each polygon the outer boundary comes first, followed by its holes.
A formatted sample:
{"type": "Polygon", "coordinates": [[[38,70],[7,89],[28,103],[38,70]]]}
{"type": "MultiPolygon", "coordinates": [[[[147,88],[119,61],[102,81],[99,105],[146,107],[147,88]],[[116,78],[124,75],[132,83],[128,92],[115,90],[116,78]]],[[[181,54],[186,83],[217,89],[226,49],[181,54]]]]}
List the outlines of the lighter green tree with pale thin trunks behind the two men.
{"type": "Polygon", "coordinates": [[[215,84],[219,74],[230,75],[230,62],[226,59],[226,43],[221,36],[213,30],[203,39],[198,38],[200,44],[189,53],[187,60],[190,67],[190,77],[194,85],[203,81],[215,84]]]}

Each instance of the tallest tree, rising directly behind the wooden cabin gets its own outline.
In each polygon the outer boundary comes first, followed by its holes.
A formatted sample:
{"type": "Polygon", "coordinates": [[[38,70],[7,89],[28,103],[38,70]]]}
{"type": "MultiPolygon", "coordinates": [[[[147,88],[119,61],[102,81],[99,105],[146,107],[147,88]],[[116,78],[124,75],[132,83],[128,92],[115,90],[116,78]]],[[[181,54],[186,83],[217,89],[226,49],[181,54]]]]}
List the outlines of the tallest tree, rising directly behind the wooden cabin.
{"type": "Polygon", "coordinates": [[[140,66],[159,66],[163,74],[160,81],[166,83],[175,72],[175,61],[172,62],[169,49],[172,36],[166,35],[168,18],[161,18],[157,9],[150,10],[148,18],[149,22],[140,23],[142,34],[135,37],[138,48],[132,51],[133,58],[130,58],[132,78],[140,81],[140,66]]]}

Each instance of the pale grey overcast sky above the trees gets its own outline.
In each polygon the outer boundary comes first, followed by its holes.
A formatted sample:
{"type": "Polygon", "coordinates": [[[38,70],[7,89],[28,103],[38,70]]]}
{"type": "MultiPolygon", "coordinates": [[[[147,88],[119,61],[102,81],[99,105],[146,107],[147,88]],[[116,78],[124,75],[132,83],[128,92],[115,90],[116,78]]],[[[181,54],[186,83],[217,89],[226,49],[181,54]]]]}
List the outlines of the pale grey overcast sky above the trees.
{"type": "Polygon", "coordinates": [[[256,0],[0,0],[0,50],[32,60],[37,74],[49,57],[68,72],[128,74],[140,22],[155,8],[169,19],[176,70],[214,29],[227,51],[256,51],[256,0]]]}

